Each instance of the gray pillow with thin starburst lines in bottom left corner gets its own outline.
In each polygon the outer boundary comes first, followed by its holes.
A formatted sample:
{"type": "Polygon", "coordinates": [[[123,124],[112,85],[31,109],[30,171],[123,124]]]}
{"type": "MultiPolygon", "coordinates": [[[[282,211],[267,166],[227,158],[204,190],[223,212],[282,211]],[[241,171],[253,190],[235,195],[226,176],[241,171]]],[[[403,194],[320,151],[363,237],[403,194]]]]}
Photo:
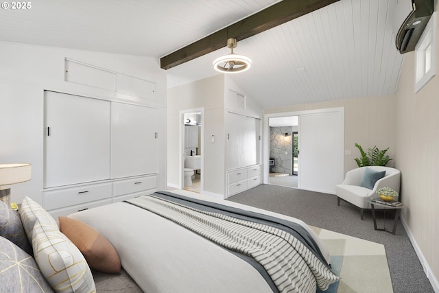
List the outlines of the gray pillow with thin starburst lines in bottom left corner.
{"type": "Polygon", "coordinates": [[[1,292],[54,292],[33,257],[0,237],[1,292]]]}

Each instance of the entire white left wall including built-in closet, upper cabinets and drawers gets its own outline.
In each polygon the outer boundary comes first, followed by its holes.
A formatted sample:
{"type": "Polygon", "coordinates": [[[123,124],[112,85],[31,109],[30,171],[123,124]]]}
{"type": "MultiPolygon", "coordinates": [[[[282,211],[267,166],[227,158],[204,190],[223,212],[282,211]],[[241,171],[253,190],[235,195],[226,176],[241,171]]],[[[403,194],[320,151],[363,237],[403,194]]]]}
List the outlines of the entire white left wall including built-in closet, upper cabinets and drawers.
{"type": "Polygon", "coordinates": [[[1,160],[52,215],[166,188],[166,72],[156,58],[1,43],[1,160]],[[49,134],[49,136],[47,136],[49,134]]]}

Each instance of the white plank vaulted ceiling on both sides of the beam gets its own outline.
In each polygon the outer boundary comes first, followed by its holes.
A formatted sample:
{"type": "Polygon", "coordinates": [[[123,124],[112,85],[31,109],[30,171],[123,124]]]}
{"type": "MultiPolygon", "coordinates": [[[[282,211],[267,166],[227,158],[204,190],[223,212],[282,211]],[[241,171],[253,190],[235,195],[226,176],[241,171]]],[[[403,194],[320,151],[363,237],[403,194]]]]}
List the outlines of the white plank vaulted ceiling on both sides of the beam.
{"type": "MultiPolygon", "coordinates": [[[[277,2],[38,0],[29,10],[0,10],[0,40],[161,58],[277,2]]],[[[231,77],[263,108],[392,94],[403,60],[395,3],[340,0],[239,40],[235,53],[252,58],[252,68],[231,77]]],[[[212,61],[228,53],[167,69],[168,86],[219,74],[212,61]]]]}

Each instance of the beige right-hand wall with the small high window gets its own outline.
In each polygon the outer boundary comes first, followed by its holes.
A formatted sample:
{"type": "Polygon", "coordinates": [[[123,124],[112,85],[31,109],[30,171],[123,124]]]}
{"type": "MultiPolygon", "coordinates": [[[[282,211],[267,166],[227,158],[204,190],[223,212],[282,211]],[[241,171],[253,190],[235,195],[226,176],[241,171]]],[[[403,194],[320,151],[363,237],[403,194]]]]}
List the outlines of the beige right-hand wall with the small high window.
{"type": "MultiPolygon", "coordinates": [[[[439,5],[436,5],[436,12],[439,5]]],[[[396,167],[401,170],[401,218],[427,277],[439,292],[439,23],[436,76],[414,93],[414,52],[405,54],[396,91],[396,167]]]]}

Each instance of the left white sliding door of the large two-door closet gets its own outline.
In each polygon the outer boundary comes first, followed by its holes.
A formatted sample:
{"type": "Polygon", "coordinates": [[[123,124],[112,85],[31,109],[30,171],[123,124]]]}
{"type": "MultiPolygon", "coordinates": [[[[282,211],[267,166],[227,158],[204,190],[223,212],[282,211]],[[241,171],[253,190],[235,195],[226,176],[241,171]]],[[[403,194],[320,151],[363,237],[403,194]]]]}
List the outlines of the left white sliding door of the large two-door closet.
{"type": "Polygon", "coordinates": [[[45,92],[45,184],[110,178],[110,102],[45,92]]]}

